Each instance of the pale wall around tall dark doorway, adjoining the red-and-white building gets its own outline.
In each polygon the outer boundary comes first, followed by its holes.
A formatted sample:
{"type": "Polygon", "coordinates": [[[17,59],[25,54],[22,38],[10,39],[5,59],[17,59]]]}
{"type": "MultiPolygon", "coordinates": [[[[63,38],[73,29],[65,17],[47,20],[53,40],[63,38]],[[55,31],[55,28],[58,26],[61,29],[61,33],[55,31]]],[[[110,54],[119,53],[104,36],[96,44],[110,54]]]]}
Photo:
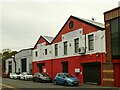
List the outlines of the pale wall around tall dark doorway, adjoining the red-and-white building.
{"type": "Polygon", "coordinates": [[[30,69],[32,69],[30,65],[32,65],[32,50],[22,50],[15,55],[16,60],[16,72],[21,72],[21,59],[26,58],[27,60],[27,72],[30,73],[30,69]]]}

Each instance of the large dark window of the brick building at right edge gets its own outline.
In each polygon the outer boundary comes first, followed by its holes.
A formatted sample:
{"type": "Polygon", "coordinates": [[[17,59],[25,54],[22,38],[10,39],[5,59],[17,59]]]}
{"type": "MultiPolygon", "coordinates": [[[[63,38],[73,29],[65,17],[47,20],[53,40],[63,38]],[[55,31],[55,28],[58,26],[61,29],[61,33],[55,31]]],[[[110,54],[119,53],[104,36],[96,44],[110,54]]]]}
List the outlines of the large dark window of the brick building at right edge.
{"type": "Polygon", "coordinates": [[[120,18],[111,20],[111,46],[112,46],[112,58],[120,58],[120,18]]]}

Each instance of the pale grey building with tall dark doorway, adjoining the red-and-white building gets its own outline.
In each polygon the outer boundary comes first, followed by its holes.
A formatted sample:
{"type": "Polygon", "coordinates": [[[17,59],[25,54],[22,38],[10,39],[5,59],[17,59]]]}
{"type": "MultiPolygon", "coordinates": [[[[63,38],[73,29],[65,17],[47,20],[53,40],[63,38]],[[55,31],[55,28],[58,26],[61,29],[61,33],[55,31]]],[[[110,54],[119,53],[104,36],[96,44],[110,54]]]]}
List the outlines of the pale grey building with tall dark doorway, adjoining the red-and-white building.
{"type": "Polygon", "coordinates": [[[16,72],[32,72],[32,48],[22,49],[15,55],[16,72]]]}

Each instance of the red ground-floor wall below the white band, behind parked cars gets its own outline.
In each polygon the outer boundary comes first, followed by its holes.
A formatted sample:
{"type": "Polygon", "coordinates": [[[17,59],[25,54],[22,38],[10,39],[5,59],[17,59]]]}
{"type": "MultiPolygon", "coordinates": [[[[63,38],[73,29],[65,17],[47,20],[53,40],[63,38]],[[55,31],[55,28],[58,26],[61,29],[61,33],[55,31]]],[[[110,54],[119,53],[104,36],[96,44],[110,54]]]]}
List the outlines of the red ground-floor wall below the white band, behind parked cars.
{"type": "MultiPolygon", "coordinates": [[[[47,73],[53,79],[57,73],[62,72],[61,62],[68,61],[68,72],[76,76],[75,68],[80,68],[80,71],[83,72],[83,67],[81,66],[81,63],[88,63],[88,62],[101,62],[102,63],[105,60],[106,60],[105,53],[99,53],[99,56],[96,56],[96,54],[92,54],[92,55],[72,56],[72,57],[66,57],[66,58],[38,61],[38,62],[32,63],[33,74],[39,71],[37,67],[37,63],[44,62],[45,66],[43,68],[46,68],[47,73]]],[[[81,73],[76,77],[79,79],[80,83],[83,83],[83,75],[81,73]]],[[[101,75],[101,78],[102,78],[102,75],[101,75]]]]}

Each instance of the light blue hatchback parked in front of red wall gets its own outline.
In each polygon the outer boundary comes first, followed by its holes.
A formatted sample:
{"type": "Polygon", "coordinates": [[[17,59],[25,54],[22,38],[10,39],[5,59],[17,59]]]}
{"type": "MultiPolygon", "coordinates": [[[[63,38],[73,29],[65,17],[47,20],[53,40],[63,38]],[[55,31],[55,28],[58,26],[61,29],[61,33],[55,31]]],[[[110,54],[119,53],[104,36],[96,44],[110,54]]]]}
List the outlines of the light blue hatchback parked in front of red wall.
{"type": "Polygon", "coordinates": [[[62,84],[62,85],[76,85],[78,86],[79,80],[69,73],[57,73],[54,78],[54,84],[62,84]]]}

